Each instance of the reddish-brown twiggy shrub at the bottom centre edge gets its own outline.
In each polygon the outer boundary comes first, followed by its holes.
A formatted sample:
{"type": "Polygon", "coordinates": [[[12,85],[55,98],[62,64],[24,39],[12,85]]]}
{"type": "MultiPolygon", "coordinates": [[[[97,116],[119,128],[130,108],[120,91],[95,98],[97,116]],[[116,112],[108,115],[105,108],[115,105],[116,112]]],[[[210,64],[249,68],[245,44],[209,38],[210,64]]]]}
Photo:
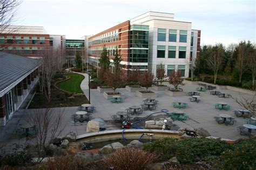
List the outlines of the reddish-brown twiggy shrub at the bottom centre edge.
{"type": "Polygon", "coordinates": [[[105,157],[103,161],[113,169],[146,169],[156,158],[155,154],[127,147],[105,157]]]}

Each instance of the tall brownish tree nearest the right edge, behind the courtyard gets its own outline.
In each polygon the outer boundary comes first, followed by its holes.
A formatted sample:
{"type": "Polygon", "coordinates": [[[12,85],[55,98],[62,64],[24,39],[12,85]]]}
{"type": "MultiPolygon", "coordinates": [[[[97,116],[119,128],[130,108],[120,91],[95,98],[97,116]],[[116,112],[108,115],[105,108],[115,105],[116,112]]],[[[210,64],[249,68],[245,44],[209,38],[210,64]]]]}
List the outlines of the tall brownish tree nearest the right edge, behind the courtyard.
{"type": "Polygon", "coordinates": [[[250,41],[241,41],[237,46],[237,59],[235,60],[235,68],[239,72],[239,82],[242,80],[242,74],[247,70],[247,60],[253,50],[253,45],[250,41]]]}

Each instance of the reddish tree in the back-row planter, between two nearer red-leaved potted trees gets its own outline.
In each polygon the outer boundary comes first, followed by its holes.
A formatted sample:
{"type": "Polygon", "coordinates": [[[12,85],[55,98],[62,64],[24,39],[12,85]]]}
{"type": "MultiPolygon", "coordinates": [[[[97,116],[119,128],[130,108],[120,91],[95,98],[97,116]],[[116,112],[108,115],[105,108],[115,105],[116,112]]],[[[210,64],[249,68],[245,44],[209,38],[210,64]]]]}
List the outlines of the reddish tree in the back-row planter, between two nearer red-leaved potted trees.
{"type": "Polygon", "coordinates": [[[164,82],[165,78],[166,78],[166,75],[165,75],[164,65],[160,64],[160,66],[157,68],[157,75],[156,75],[157,84],[155,86],[153,86],[152,88],[156,91],[162,91],[162,90],[168,89],[168,86],[162,84],[164,82]],[[158,83],[160,83],[160,84],[158,84],[158,83]]]}

